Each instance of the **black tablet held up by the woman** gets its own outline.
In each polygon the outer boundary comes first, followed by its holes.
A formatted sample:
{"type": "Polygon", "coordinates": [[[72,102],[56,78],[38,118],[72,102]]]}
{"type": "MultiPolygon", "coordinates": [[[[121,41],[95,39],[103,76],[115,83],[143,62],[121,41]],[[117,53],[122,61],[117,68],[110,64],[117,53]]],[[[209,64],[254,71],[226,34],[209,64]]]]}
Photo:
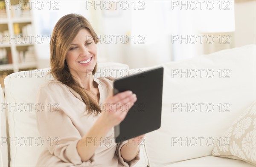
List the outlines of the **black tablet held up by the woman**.
{"type": "Polygon", "coordinates": [[[161,126],[163,67],[118,78],[113,82],[113,94],[131,90],[137,101],[125,119],[115,126],[115,142],[119,143],[157,130],[161,126]]]}

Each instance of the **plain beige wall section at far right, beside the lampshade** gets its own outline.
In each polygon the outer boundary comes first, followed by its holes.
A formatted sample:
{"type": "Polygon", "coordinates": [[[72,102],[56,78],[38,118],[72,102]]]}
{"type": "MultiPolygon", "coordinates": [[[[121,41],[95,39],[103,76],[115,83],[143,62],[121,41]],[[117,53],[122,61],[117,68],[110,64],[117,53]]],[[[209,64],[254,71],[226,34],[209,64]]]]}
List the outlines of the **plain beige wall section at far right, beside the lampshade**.
{"type": "Polygon", "coordinates": [[[235,1],[235,47],[256,44],[256,0],[235,1]]]}

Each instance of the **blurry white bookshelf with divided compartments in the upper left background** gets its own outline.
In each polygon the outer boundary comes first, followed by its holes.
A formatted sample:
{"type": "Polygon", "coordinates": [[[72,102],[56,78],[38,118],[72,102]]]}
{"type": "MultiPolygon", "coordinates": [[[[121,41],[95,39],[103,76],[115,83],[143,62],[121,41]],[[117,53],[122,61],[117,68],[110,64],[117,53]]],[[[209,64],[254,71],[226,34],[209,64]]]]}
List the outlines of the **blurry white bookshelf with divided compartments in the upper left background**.
{"type": "MultiPolygon", "coordinates": [[[[20,9],[20,6],[15,6],[22,0],[0,0],[1,3],[5,2],[8,4],[6,8],[0,11],[0,13],[4,13],[0,16],[0,29],[1,35],[7,35],[8,38],[2,40],[0,43],[0,48],[2,50],[6,50],[8,61],[1,60],[1,63],[8,64],[0,64],[0,72],[6,71],[15,71],[18,72],[23,69],[36,69],[38,66],[37,56],[35,50],[30,49],[30,46],[35,46],[35,40],[32,37],[32,40],[27,37],[27,35],[33,35],[34,27],[33,27],[33,15],[32,11],[28,9],[20,9]],[[18,7],[18,9],[17,9],[18,7]],[[6,15],[6,17],[5,17],[6,15]],[[24,35],[26,38],[20,37],[18,35],[24,35]],[[25,43],[22,43],[25,42],[25,43]],[[28,51],[29,56],[31,54],[35,55],[35,59],[32,58],[24,58],[26,51],[28,51]],[[23,55],[23,57],[21,57],[23,55]],[[30,62],[23,62],[23,60],[31,60],[30,62]],[[22,63],[20,63],[22,62],[22,63]]],[[[24,0],[24,4],[28,0],[24,0]]],[[[23,4],[22,3],[22,4],[23,4]]],[[[22,5],[21,4],[21,5],[22,5]]],[[[3,52],[5,54],[5,52],[3,52]]],[[[2,54],[2,52],[1,52],[2,54]]],[[[28,56],[28,57],[29,57],[28,56]]],[[[1,57],[4,57],[4,55],[1,57]]]]}

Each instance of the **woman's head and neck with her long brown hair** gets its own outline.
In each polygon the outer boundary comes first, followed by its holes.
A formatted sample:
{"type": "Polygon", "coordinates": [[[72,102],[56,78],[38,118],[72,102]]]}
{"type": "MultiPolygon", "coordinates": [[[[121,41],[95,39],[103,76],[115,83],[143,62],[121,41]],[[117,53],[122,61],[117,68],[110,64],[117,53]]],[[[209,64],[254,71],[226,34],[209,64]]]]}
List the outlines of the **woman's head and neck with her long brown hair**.
{"type": "Polygon", "coordinates": [[[65,83],[78,92],[83,101],[90,104],[90,106],[87,105],[90,113],[92,113],[92,110],[99,112],[97,102],[88,96],[90,89],[86,89],[87,86],[93,85],[87,84],[93,83],[92,75],[88,78],[87,73],[90,72],[94,75],[96,72],[96,43],[98,42],[98,37],[88,20],[81,15],[68,14],[61,17],[56,23],[50,43],[50,63],[53,76],[56,80],[65,83]],[[88,45],[88,40],[90,40],[91,46],[88,45]],[[79,61],[84,61],[86,57],[85,60],[87,60],[92,55],[94,60],[90,63],[90,66],[81,66],[79,61]]]}

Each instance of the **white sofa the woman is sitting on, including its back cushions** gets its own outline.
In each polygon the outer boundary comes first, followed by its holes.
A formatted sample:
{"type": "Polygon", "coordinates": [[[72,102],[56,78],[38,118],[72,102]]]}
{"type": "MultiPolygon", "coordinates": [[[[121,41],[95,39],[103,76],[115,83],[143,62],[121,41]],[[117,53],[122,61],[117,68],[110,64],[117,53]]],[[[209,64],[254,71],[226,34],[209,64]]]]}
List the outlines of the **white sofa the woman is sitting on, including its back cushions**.
{"type": "MultiPolygon", "coordinates": [[[[249,45],[159,65],[164,67],[162,123],[159,130],[145,136],[136,166],[255,166],[212,156],[221,135],[255,101],[255,50],[255,45],[249,45]]],[[[141,71],[120,63],[99,63],[98,68],[100,74],[116,78],[128,70],[131,74],[141,71]]],[[[41,83],[51,79],[47,71],[19,72],[4,81],[1,166],[35,166],[47,144],[41,140],[35,120],[35,93],[41,83]]]]}

